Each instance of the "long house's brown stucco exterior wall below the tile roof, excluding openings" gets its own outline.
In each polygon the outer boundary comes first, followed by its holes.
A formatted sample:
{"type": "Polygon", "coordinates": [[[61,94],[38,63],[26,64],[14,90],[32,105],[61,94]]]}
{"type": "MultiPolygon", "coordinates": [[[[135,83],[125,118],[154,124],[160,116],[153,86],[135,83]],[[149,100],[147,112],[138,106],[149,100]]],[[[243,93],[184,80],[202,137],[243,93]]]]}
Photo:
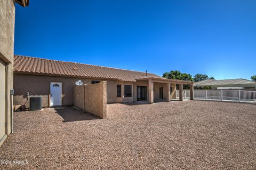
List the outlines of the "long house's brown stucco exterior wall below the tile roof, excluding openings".
{"type": "MultiPolygon", "coordinates": [[[[84,84],[91,84],[92,80],[100,79],[14,74],[14,104],[26,104],[26,107],[28,108],[29,100],[27,101],[26,92],[29,92],[32,96],[42,95],[43,107],[49,107],[50,82],[62,82],[62,104],[64,106],[71,106],[73,105],[74,101],[74,85],[77,80],[82,80],[84,84]]],[[[141,80],[137,81],[136,83],[120,82],[117,80],[107,80],[107,103],[137,101],[137,86],[147,86],[148,100],[148,80],[141,80]],[[116,85],[122,86],[121,98],[117,98],[116,85]],[[132,97],[124,97],[124,85],[132,86],[132,97]]],[[[159,99],[160,86],[163,86],[163,99],[167,100],[166,95],[169,94],[169,92],[167,91],[167,83],[156,82],[154,82],[154,99],[159,99]]],[[[171,84],[171,86],[175,87],[175,84],[171,84]]],[[[175,93],[173,92],[173,94],[175,93]]]]}

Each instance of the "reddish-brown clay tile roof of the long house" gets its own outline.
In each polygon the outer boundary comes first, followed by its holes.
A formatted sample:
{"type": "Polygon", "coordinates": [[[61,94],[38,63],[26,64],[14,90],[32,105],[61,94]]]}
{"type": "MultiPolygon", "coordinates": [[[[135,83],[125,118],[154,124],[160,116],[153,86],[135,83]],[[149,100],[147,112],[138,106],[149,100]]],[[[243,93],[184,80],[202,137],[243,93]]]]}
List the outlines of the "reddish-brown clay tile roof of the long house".
{"type": "Polygon", "coordinates": [[[22,55],[14,55],[13,69],[15,72],[26,72],[27,74],[31,73],[55,76],[60,75],[70,77],[117,79],[125,82],[135,82],[136,79],[147,77],[163,78],[150,73],[148,73],[146,77],[146,73],[140,71],[101,67],[75,62],[41,59],[22,55]]]}

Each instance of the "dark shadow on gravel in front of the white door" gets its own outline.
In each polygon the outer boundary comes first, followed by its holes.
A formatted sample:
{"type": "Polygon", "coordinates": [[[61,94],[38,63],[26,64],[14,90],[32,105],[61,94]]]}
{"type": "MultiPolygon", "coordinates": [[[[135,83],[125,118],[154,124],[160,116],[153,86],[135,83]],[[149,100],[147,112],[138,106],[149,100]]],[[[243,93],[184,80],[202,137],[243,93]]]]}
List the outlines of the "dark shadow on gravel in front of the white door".
{"type": "Polygon", "coordinates": [[[62,120],[63,123],[100,119],[98,116],[92,115],[89,112],[85,112],[83,110],[75,110],[71,107],[65,107],[64,109],[55,109],[55,111],[64,119],[62,120]]]}

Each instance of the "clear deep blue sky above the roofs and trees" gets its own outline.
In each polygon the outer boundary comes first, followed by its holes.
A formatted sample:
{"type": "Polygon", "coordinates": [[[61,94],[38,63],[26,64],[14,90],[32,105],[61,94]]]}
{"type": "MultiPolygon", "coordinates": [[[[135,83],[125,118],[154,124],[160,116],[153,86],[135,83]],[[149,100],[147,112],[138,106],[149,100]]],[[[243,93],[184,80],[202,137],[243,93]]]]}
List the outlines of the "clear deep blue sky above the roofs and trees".
{"type": "Polygon", "coordinates": [[[36,1],[16,5],[14,54],[216,79],[256,74],[256,1],[36,1]]]}

